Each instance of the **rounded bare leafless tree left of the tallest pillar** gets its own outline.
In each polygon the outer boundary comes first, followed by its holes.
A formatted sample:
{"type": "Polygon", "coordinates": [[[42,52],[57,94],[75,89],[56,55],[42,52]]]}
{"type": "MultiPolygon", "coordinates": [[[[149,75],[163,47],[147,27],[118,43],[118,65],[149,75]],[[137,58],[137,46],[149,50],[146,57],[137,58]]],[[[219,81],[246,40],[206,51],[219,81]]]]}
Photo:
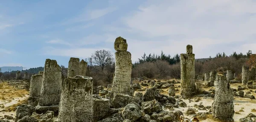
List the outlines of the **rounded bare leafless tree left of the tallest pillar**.
{"type": "Polygon", "coordinates": [[[108,50],[97,50],[92,54],[92,62],[98,65],[102,71],[108,64],[111,64],[112,60],[113,55],[108,50]]]}

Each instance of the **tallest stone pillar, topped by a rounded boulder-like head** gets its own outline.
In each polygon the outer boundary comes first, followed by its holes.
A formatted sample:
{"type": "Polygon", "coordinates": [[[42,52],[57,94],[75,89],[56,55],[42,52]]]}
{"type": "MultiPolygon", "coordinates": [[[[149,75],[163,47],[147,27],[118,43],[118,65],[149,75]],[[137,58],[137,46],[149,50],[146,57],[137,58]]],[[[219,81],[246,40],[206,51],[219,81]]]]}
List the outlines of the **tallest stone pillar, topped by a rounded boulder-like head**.
{"type": "Polygon", "coordinates": [[[127,51],[128,44],[122,37],[115,40],[114,48],[116,50],[116,67],[115,75],[112,83],[112,93],[130,94],[131,83],[131,53],[127,51]]]}

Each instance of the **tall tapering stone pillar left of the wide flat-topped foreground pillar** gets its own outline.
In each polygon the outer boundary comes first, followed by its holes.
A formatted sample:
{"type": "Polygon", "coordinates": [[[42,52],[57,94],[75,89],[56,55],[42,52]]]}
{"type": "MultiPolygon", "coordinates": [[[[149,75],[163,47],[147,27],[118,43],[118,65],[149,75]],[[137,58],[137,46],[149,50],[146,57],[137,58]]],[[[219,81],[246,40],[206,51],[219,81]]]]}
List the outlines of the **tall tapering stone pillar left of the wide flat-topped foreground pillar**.
{"type": "Polygon", "coordinates": [[[61,67],[56,60],[46,59],[39,106],[58,105],[61,98],[61,67]]]}

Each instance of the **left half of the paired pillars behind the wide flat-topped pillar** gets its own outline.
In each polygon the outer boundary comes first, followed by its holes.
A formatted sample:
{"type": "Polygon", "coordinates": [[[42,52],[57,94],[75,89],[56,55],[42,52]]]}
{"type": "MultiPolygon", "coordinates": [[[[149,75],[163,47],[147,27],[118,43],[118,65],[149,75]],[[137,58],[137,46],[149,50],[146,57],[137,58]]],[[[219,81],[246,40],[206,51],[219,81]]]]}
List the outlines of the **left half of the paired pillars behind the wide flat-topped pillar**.
{"type": "Polygon", "coordinates": [[[70,58],[70,61],[68,62],[68,68],[67,68],[67,78],[73,78],[76,75],[79,75],[79,64],[80,59],[79,58],[70,58]]]}

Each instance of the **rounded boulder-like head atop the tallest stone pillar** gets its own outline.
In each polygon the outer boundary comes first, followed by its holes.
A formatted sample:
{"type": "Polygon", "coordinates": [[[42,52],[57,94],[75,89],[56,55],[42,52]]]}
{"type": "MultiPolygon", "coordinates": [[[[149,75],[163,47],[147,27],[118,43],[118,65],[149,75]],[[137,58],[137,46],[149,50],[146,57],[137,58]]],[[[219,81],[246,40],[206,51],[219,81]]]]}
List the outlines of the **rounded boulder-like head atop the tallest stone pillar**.
{"type": "Polygon", "coordinates": [[[114,42],[114,48],[116,51],[127,51],[128,44],[126,43],[126,39],[122,37],[117,37],[114,42]]]}

